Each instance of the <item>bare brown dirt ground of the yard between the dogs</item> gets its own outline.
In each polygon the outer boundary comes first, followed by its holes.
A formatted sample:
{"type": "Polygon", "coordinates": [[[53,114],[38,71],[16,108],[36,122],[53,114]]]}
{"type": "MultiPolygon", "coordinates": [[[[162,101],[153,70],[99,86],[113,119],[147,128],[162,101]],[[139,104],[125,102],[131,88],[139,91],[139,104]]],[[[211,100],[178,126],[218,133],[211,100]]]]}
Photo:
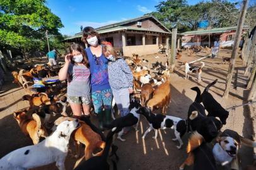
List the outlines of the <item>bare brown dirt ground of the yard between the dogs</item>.
{"type": "MultiPolygon", "coordinates": [[[[243,77],[244,68],[241,66],[240,59],[236,62],[236,66],[238,67],[237,87],[236,89],[231,89],[228,99],[221,98],[224,92],[228,71],[228,64],[222,64],[222,57],[230,57],[231,50],[221,50],[217,59],[203,60],[206,66],[202,69],[202,82],[197,82],[195,75],[190,77],[190,79],[184,79],[184,67],[180,67],[182,62],[190,62],[204,55],[206,54],[201,52],[195,57],[189,57],[187,56],[187,52],[183,51],[182,58],[177,60],[175,73],[171,74],[172,102],[168,107],[168,115],[186,118],[189,105],[195,99],[195,92],[190,88],[198,86],[203,90],[207,84],[215,79],[218,79],[218,82],[210,89],[210,93],[224,108],[245,103],[243,97],[247,95],[248,91],[245,89],[246,79],[243,77]]],[[[146,56],[144,59],[148,59],[150,62],[156,62],[156,60],[162,62],[166,61],[166,57],[162,55],[158,55],[160,57],[158,59],[156,59],[155,56],[156,55],[146,56]]],[[[0,157],[20,147],[32,145],[32,141],[23,135],[18,127],[18,123],[12,116],[13,111],[25,108],[28,106],[28,102],[21,101],[21,96],[25,93],[23,89],[18,88],[18,86],[12,84],[11,81],[12,78],[10,74],[8,74],[6,84],[0,92],[0,157]]],[[[253,105],[253,107],[255,106],[256,105],[253,105]]],[[[93,122],[96,123],[94,116],[93,122]]],[[[172,141],[174,137],[173,130],[160,130],[156,140],[151,138],[153,132],[150,132],[146,136],[146,139],[143,140],[141,137],[146,128],[148,128],[148,123],[145,118],[141,116],[138,132],[132,130],[125,135],[124,138],[127,139],[125,142],[115,140],[115,144],[119,147],[117,154],[120,157],[119,162],[117,162],[117,168],[122,170],[178,169],[186,158],[185,147],[187,145],[188,134],[182,138],[184,145],[182,149],[179,150],[176,148],[178,142],[172,141]]],[[[223,129],[225,128],[235,130],[240,135],[252,139],[252,113],[250,113],[250,108],[248,106],[242,106],[236,108],[236,110],[230,111],[227,124],[224,125],[223,129]]],[[[243,146],[241,147],[240,155],[243,168],[248,164],[252,164],[253,149],[243,146]]],[[[67,156],[66,169],[72,169],[75,161],[73,157],[67,156]]],[[[55,167],[54,164],[50,164],[35,169],[57,169],[57,167],[55,167]]],[[[186,169],[191,169],[191,167],[186,167],[186,169]]]]}

